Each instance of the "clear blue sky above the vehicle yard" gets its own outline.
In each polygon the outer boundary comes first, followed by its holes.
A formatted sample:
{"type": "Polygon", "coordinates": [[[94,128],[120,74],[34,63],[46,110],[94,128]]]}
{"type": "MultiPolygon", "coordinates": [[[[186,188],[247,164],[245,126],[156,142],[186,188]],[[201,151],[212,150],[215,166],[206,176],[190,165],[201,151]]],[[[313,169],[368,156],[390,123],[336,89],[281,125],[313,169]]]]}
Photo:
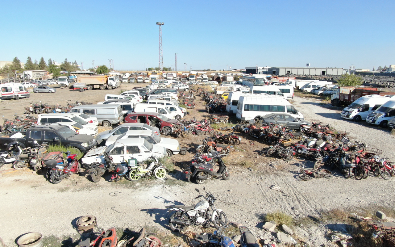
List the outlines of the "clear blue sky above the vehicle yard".
{"type": "Polygon", "coordinates": [[[246,66],[369,68],[395,63],[395,1],[11,1],[1,4],[0,60],[28,56],[199,70],[246,66]],[[17,14],[17,15],[15,15],[17,14]],[[13,38],[15,35],[17,38],[13,38]]]}

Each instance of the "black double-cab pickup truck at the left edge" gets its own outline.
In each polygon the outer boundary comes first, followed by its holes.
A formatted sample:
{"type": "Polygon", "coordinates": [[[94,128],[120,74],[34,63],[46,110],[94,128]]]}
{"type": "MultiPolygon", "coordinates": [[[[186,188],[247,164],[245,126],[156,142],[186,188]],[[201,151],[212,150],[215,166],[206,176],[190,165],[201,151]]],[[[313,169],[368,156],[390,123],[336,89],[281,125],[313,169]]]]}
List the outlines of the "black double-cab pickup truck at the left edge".
{"type": "Polygon", "coordinates": [[[34,147],[34,141],[37,141],[38,144],[46,142],[48,145],[76,147],[83,153],[96,146],[93,136],[77,134],[66,126],[45,124],[28,128],[26,132],[12,132],[1,136],[0,150],[8,151],[7,147],[15,142],[21,148],[34,147]]]}

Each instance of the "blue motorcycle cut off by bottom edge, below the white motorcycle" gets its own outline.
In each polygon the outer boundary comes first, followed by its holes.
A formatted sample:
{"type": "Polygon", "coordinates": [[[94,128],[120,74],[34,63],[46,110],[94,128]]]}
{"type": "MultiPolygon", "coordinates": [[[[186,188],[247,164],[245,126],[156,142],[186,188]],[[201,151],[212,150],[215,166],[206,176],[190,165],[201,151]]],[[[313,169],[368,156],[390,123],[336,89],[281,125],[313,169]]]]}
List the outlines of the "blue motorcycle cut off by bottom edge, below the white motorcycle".
{"type": "Polygon", "coordinates": [[[218,227],[213,233],[196,235],[195,241],[198,242],[197,247],[235,247],[232,239],[226,237],[222,231],[229,224],[224,227],[218,227]]]}

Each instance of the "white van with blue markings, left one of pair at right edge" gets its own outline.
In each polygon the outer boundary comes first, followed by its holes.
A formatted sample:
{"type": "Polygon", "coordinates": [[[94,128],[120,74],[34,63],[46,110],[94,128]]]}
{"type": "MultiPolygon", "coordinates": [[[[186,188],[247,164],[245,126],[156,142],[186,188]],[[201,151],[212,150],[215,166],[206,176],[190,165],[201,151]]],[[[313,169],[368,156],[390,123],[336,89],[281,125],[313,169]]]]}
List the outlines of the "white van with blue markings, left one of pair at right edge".
{"type": "Polygon", "coordinates": [[[395,99],[395,95],[380,96],[372,94],[363,96],[344,108],[340,115],[342,118],[352,119],[355,122],[365,120],[369,114],[391,99],[395,99]]]}

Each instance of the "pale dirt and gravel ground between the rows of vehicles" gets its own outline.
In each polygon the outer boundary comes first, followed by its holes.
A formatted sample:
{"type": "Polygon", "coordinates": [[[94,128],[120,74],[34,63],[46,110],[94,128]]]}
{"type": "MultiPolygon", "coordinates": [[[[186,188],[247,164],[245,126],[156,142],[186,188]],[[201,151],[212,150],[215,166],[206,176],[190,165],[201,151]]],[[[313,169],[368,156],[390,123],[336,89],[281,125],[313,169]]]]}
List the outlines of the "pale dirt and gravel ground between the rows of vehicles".
{"type": "MultiPolygon", "coordinates": [[[[143,84],[127,84],[122,89],[136,86],[143,84]]],[[[28,99],[0,102],[0,115],[6,118],[12,118],[15,113],[22,115],[24,106],[29,102],[41,101],[52,105],[79,100],[96,103],[102,101],[105,94],[116,94],[118,91],[72,92],[58,89],[52,94],[33,93],[28,99]]],[[[186,119],[194,116],[200,120],[207,115],[201,97],[197,97],[196,102],[197,107],[190,110],[191,114],[186,119]]],[[[295,97],[292,103],[308,121],[322,121],[339,130],[346,130],[352,138],[382,149],[385,156],[394,159],[395,136],[388,130],[343,120],[340,118],[340,108],[322,104],[319,100],[295,97]]],[[[266,145],[250,136],[240,136],[243,138],[242,144],[226,157],[230,179],[211,179],[204,185],[218,198],[216,206],[224,210],[229,221],[243,223],[257,237],[264,234],[263,215],[276,210],[300,218],[318,217],[322,211],[337,208],[394,207],[394,178],[384,180],[369,176],[357,181],[353,178],[344,179],[335,171],[331,179],[302,181],[297,179],[300,168],[303,165],[312,168],[312,162],[298,159],[284,162],[261,156],[258,151],[266,145]],[[254,145],[250,145],[250,141],[254,145]],[[271,190],[269,187],[272,185],[280,186],[288,196],[271,190]]],[[[190,147],[191,150],[185,156],[171,156],[176,170],[169,173],[164,181],[141,179],[138,182],[122,180],[110,183],[107,174],[99,183],[93,183],[86,175],[73,174],[70,179],[53,185],[44,179],[40,171],[14,170],[10,164],[6,164],[0,168],[0,237],[7,246],[15,245],[15,239],[26,232],[68,238],[77,234],[75,222],[78,217],[95,215],[101,228],[115,226],[138,231],[142,226],[147,226],[172,238],[181,238],[180,234],[173,235],[169,230],[167,223],[170,215],[164,206],[198,202],[194,200],[198,195],[195,188],[202,190],[203,186],[188,183],[181,170],[182,164],[192,159],[194,148],[202,139],[202,136],[178,139],[181,147],[190,147]]],[[[306,240],[310,246],[333,246],[324,237],[324,229],[325,222],[320,229],[305,229],[310,234],[306,240]]],[[[171,242],[170,246],[176,246],[175,243],[179,242],[171,242]]]]}

